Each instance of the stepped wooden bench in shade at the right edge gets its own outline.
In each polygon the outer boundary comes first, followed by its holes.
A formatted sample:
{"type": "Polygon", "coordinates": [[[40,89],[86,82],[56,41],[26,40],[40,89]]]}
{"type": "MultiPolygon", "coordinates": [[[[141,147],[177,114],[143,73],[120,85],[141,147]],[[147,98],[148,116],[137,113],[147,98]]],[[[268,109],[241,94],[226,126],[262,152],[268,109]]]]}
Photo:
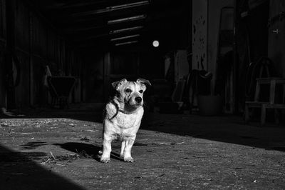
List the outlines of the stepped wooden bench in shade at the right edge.
{"type": "Polygon", "coordinates": [[[276,124],[279,124],[279,109],[285,109],[285,79],[269,77],[257,79],[257,86],[254,94],[254,101],[246,101],[244,108],[244,119],[249,122],[249,108],[261,109],[260,125],[264,126],[266,119],[266,109],[274,109],[274,116],[276,124]],[[259,101],[261,84],[269,84],[269,101],[259,101]],[[282,85],[283,94],[281,103],[275,103],[276,100],[276,85],[282,85]]]}

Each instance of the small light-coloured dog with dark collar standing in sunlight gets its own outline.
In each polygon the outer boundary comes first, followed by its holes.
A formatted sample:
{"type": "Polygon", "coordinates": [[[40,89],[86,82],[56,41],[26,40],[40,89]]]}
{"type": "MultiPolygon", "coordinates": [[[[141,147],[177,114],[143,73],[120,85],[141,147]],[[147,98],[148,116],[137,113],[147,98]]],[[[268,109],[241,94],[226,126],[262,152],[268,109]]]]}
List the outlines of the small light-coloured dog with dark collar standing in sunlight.
{"type": "Polygon", "coordinates": [[[115,139],[121,141],[120,157],[127,162],[134,161],[130,151],[144,113],[143,93],[147,88],[146,84],[151,85],[146,79],[122,79],[112,83],[117,94],[105,106],[101,162],[110,162],[111,143],[115,139]]]}

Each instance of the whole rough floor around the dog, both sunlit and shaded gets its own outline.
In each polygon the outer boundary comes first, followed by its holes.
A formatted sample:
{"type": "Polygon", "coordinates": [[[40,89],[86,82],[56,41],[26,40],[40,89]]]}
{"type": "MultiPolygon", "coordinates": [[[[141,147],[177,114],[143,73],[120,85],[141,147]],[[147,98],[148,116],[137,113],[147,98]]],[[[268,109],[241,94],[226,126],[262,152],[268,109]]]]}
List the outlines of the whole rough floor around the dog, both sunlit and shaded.
{"type": "Polygon", "coordinates": [[[90,109],[0,119],[0,189],[285,189],[284,126],[147,113],[134,163],[118,157],[118,142],[100,163],[101,136],[90,109]]]}

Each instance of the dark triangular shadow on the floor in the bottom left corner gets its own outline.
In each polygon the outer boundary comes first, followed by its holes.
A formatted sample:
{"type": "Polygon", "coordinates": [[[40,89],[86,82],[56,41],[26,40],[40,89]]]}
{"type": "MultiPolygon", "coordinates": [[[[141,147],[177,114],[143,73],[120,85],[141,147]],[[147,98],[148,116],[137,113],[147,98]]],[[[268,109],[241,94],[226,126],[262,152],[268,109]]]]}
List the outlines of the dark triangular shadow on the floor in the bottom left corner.
{"type": "Polygon", "coordinates": [[[83,189],[36,164],[43,156],[42,152],[16,152],[0,146],[0,189],[83,189]]]}

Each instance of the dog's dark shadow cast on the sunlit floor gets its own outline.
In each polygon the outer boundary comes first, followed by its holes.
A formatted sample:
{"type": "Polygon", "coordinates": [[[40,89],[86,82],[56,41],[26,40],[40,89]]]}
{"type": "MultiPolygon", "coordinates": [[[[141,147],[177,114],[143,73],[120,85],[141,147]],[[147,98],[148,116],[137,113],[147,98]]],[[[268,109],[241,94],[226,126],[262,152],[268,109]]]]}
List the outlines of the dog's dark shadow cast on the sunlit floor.
{"type": "MultiPolygon", "coordinates": [[[[76,154],[84,153],[86,155],[83,155],[83,156],[91,156],[93,159],[100,162],[99,151],[102,150],[100,146],[95,146],[95,145],[86,144],[86,143],[77,143],[77,142],[68,142],[68,143],[53,144],[53,145],[60,146],[62,149],[66,149],[68,151],[73,151],[76,154]]],[[[123,161],[120,155],[115,152],[111,152],[110,157],[112,159],[123,161]]]]}

